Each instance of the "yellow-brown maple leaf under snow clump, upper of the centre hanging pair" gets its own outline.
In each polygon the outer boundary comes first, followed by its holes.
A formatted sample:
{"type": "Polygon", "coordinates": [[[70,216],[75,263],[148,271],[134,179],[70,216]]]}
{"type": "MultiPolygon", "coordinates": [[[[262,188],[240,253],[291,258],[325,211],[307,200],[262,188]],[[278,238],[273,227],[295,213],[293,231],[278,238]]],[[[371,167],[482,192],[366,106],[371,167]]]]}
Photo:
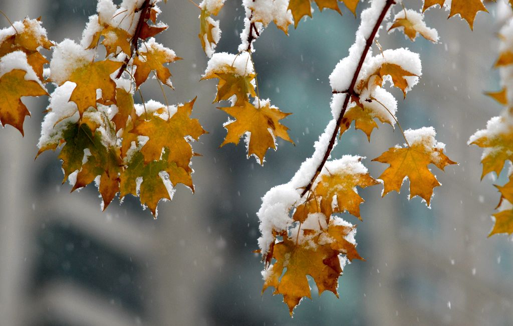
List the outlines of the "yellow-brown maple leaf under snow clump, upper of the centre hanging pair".
{"type": "Polygon", "coordinates": [[[228,100],[235,95],[237,97],[235,105],[242,105],[248,101],[248,94],[253,97],[257,96],[251,83],[255,78],[255,74],[239,75],[234,67],[224,64],[209,72],[202,80],[211,78],[219,78],[218,92],[213,103],[228,100]]]}

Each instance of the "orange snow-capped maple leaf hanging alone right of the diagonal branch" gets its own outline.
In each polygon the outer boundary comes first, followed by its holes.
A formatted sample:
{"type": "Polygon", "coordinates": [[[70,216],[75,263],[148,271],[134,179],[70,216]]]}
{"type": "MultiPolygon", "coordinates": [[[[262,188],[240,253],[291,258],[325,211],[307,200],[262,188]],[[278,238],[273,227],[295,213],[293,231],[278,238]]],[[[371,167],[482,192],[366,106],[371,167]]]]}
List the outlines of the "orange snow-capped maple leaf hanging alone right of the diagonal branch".
{"type": "Polygon", "coordinates": [[[445,166],[457,163],[451,161],[443,153],[443,144],[436,143],[434,139],[435,129],[422,128],[417,131],[411,131],[410,129],[405,132],[406,139],[414,132],[423,134],[418,139],[413,138],[415,137],[413,136],[406,148],[391,147],[372,161],[390,164],[378,178],[383,180],[383,196],[392,190],[399,192],[405,177],[408,177],[410,181],[409,198],[419,195],[429,206],[433,189],[441,184],[427,166],[434,164],[439,169],[444,170],[445,166]]]}

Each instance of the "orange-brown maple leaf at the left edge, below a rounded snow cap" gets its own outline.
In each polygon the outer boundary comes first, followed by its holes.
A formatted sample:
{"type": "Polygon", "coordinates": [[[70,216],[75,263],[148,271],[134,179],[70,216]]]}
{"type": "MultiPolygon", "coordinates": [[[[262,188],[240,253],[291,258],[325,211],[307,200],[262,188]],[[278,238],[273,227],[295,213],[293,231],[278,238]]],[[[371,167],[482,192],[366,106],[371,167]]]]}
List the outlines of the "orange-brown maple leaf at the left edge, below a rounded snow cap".
{"type": "Polygon", "coordinates": [[[30,116],[27,106],[22,102],[22,96],[48,95],[40,83],[26,80],[26,71],[13,69],[0,77],[0,122],[2,125],[10,124],[20,133],[23,133],[23,122],[30,116]]]}

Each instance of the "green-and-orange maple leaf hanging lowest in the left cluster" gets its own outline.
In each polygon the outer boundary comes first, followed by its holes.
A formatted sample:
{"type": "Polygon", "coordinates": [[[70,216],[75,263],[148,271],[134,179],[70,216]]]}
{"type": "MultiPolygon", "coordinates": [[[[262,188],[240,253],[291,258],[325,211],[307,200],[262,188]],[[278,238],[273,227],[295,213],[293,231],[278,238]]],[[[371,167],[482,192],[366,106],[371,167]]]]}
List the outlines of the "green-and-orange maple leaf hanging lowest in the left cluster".
{"type": "Polygon", "coordinates": [[[161,199],[171,200],[169,191],[161,177],[161,172],[165,171],[169,175],[169,181],[173,186],[182,183],[194,192],[192,185],[191,169],[179,167],[175,162],[169,160],[169,149],[165,149],[162,160],[145,163],[144,156],[137,151],[127,164],[127,168],[121,173],[120,177],[120,198],[127,194],[137,196],[137,178],[143,178],[140,186],[141,204],[146,205],[153,216],[157,215],[157,204],[161,199]]]}

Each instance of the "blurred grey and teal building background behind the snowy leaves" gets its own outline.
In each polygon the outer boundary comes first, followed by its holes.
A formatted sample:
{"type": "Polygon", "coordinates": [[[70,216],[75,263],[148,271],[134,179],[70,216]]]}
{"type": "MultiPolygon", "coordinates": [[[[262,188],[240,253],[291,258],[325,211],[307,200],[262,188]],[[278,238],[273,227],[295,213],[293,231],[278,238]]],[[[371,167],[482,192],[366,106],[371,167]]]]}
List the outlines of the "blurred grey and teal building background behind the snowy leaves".
{"type": "MultiPolygon", "coordinates": [[[[422,2],[405,4],[418,9],[422,2]]],[[[47,99],[24,98],[32,113],[25,137],[11,126],[0,131],[0,325],[512,325],[513,246],[505,235],[487,238],[499,200],[496,180],[480,181],[481,149],[466,145],[502,110],[483,95],[500,89],[492,66],[507,9],[498,5],[478,14],[473,32],[459,17],[447,20],[448,12],[429,10],[428,26],[441,35],[436,45],[382,33],[384,49],[408,47],[420,53],[424,67],[405,100],[392,90],[400,123],[434,126],[460,164],[445,173],[432,167],[443,186],[435,189],[431,209],[419,198],[407,200],[408,182],[383,199],[381,186],[360,190],[364,221],[344,218],[358,224],[366,261],[346,266],[340,299],[332,293],[319,298],[311,284],[313,300],[304,299],[291,319],[281,296],[261,295],[263,265],[252,253],[259,237],[255,212],[262,195],[290,180],[312,154],[330,119],[328,76],[347,55],[359,20],[345,8],[341,17],[314,6],[313,19],[291,28],[288,37],[271,24],[256,42],[261,95],[293,113],[283,122],[295,142],[280,140],[262,167],[245,158],[244,145],[218,148],[227,116],[211,104],[215,81],[199,82],[207,57],[198,39],[198,8],[187,0],[162,3],[160,18],[170,27],[157,40],[184,58],[170,67],[175,91],[167,95],[173,103],[198,95],[193,116],[210,133],[193,144],[203,154],[193,159],[196,193],[179,186],[172,202],[160,203],[157,220],[133,197],[102,212],[94,185],[71,194],[69,184],[61,185],[57,153],[34,162],[47,99]]],[[[95,8],[94,0],[0,4],[11,20],[42,16],[57,42],[80,40],[95,8]]],[[[226,2],[218,52],[236,51],[243,14],[241,2],[226,2]]],[[[157,83],[147,84],[145,98],[163,101],[157,83]]],[[[386,165],[371,159],[402,142],[389,125],[380,125],[371,143],[351,128],[332,156],[365,156],[378,177],[386,165]]],[[[505,176],[497,182],[504,184],[505,176]]]]}

